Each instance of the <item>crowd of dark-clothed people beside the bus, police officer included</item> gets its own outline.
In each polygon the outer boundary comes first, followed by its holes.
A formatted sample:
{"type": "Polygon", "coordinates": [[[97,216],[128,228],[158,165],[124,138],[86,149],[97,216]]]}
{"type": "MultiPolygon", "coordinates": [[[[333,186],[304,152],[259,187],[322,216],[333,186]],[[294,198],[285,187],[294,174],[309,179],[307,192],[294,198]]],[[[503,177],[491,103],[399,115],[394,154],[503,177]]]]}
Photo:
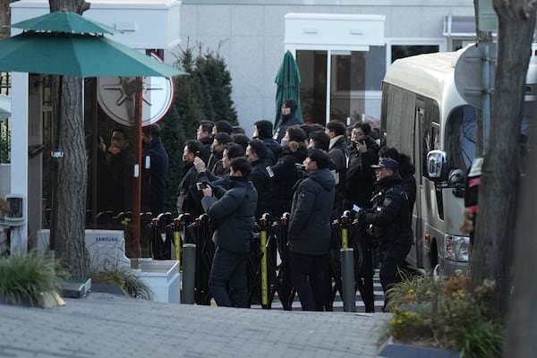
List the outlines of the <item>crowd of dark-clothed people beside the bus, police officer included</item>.
{"type": "Polygon", "coordinates": [[[331,222],[345,209],[371,226],[385,252],[384,291],[400,279],[413,240],[410,158],[380,148],[370,124],[301,124],[296,108],[294,100],[284,101],[277,129],[258,121],[251,139],[226,121],[203,122],[197,139],[184,146],[177,210],[194,217],[206,212],[212,221],[209,288],[218,305],[246,306],[246,265],[255,222],[264,213],[290,213],[291,279],[304,311],[323,310],[331,222]]]}

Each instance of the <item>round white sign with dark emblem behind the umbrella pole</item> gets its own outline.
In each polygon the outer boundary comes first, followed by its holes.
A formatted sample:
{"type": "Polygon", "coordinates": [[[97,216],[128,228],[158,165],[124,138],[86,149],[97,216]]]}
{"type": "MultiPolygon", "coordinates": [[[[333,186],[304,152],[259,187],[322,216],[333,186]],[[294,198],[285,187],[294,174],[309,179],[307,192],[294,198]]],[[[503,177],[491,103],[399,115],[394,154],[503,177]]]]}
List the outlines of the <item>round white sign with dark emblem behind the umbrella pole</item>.
{"type": "MultiPolygon", "coordinates": [[[[162,62],[158,55],[151,56],[162,62]]],[[[136,77],[98,77],[98,104],[115,122],[133,125],[136,89],[136,77]]],[[[174,82],[170,77],[144,77],[141,90],[141,125],[155,124],[172,106],[174,82]]]]}

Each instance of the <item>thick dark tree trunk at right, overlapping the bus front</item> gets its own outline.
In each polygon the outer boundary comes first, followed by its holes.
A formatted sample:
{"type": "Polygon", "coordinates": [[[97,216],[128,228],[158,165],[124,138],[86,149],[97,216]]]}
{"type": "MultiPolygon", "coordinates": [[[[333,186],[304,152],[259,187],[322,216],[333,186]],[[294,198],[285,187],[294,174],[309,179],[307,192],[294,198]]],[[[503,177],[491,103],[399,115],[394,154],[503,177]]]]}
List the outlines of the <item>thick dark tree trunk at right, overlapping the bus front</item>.
{"type": "Polygon", "coordinates": [[[493,4],[499,18],[498,64],[472,250],[472,285],[480,286],[484,279],[496,282],[494,313],[503,320],[511,287],[519,129],[535,9],[530,0],[493,0],[493,4]]]}

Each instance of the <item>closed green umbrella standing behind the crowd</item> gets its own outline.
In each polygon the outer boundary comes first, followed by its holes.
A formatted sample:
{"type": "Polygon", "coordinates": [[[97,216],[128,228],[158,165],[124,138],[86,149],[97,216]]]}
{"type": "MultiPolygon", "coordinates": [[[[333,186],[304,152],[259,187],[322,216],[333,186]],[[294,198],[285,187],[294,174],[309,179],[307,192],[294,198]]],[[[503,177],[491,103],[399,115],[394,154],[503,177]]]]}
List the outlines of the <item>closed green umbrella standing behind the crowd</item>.
{"type": "Polygon", "coordinates": [[[284,61],[276,75],[276,120],[274,127],[277,128],[280,116],[282,114],[282,102],[286,99],[294,99],[298,105],[296,116],[302,119],[302,110],[300,106],[300,71],[294,61],[293,54],[290,51],[284,55],[284,61]]]}

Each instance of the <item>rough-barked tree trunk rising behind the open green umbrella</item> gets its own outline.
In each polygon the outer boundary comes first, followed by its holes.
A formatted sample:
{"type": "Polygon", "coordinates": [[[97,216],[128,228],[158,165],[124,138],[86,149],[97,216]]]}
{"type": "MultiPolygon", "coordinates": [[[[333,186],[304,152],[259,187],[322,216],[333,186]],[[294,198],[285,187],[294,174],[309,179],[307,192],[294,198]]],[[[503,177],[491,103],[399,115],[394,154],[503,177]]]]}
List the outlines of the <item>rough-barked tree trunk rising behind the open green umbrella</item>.
{"type": "MultiPolygon", "coordinates": [[[[83,13],[90,4],[83,0],[49,0],[50,11],[83,13]]],[[[55,171],[55,199],[51,222],[51,243],[55,256],[75,277],[90,271],[90,254],[86,248],[86,143],[82,117],[82,79],[64,76],[57,84],[55,114],[56,143],[64,151],[55,171]]]]}

